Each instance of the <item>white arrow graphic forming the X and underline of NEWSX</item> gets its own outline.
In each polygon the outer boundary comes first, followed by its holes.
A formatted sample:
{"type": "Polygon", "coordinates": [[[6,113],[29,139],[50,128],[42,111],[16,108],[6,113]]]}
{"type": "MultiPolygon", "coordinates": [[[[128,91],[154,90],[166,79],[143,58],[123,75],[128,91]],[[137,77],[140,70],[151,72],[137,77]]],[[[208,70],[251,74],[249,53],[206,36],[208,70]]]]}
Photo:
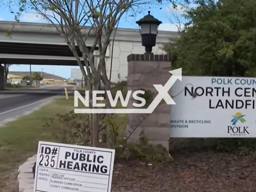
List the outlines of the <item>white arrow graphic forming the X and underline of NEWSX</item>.
{"type": "Polygon", "coordinates": [[[74,113],[152,113],[162,99],[164,99],[168,105],[175,105],[176,103],[168,94],[168,91],[170,90],[170,88],[173,86],[177,79],[179,79],[180,81],[182,80],[182,68],[172,70],[169,72],[172,74],[172,76],[164,86],[159,84],[153,85],[158,91],[158,95],[156,96],[156,98],[154,98],[154,100],[152,101],[150,106],[148,106],[147,109],[75,109],[74,113]]]}

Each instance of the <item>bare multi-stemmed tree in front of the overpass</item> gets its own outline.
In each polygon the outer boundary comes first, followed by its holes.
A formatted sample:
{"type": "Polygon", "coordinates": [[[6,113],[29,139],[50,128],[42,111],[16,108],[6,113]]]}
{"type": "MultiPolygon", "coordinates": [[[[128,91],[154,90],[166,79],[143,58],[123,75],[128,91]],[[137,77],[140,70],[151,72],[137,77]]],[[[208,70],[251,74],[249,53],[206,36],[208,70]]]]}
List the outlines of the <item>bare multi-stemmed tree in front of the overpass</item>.
{"type": "MultiPolygon", "coordinates": [[[[73,52],[78,66],[86,81],[90,94],[99,90],[103,82],[105,90],[110,90],[111,83],[106,72],[105,55],[110,44],[110,36],[120,18],[132,12],[135,15],[146,5],[162,3],[164,0],[18,0],[19,10],[16,15],[26,10],[35,10],[64,38],[73,52]],[[89,36],[94,36],[91,44],[89,36]],[[98,49],[99,60],[94,64],[94,51],[98,49]],[[79,53],[82,53],[82,56],[79,53]],[[85,66],[85,69],[84,69],[85,66]]],[[[10,0],[12,4],[12,0],[10,0]]],[[[172,0],[166,0],[170,3],[172,0]]],[[[90,108],[92,107],[90,95],[90,108]]],[[[110,102],[106,98],[106,107],[110,102]]],[[[92,144],[98,145],[98,118],[92,115],[92,144]]]]}

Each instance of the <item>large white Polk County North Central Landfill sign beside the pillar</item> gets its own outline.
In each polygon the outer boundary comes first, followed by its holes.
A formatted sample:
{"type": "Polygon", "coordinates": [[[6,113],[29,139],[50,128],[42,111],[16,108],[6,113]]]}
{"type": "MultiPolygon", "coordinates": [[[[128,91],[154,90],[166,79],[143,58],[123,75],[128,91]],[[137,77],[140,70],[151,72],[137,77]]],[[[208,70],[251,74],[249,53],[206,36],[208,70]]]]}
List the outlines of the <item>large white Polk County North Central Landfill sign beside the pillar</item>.
{"type": "Polygon", "coordinates": [[[170,95],[170,137],[256,137],[256,78],[182,76],[170,95]]]}

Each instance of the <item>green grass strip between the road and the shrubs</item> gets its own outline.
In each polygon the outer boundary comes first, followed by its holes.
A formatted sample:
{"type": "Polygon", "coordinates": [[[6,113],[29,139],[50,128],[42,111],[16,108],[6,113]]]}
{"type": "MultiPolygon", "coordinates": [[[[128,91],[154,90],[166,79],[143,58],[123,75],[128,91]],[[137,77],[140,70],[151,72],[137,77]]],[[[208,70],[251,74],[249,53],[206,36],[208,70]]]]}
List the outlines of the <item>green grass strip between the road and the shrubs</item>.
{"type": "MultiPolygon", "coordinates": [[[[80,100],[78,104],[82,108],[80,100]]],[[[69,100],[56,98],[33,113],[0,127],[0,192],[9,192],[10,184],[16,181],[18,166],[36,154],[38,141],[54,142],[50,130],[43,126],[43,119],[73,109],[74,97],[69,100]]],[[[125,127],[126,115],[118,115],[121,118],[116,118],[116,123],[122,123],[125,127]]]]}

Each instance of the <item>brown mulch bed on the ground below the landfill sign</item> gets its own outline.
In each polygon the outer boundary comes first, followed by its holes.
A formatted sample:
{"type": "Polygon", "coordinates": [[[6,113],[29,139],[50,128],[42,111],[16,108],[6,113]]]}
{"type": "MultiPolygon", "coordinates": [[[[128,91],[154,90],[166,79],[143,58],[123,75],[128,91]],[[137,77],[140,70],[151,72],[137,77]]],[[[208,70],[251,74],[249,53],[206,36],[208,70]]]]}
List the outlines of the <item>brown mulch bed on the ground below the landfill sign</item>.
{"type": "Polygon", "coordinates": [[[200,152],[169,164],[116,160],[112,192],[256,192],[256,156],[200,152]]]}

